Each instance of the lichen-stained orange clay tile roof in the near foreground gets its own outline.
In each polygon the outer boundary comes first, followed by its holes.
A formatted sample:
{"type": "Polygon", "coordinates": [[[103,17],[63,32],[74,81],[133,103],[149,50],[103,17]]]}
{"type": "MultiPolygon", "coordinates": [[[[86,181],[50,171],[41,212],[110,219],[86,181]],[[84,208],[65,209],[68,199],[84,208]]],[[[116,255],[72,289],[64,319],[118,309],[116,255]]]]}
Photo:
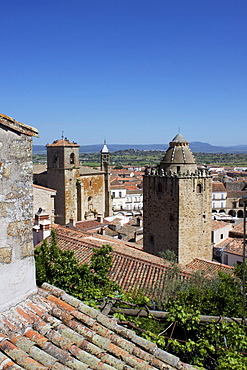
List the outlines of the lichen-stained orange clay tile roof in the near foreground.
{"type": "Polygon", "coordinates": [[[0,313],[0,369],[185,369],[179,358],[63,290],[43,284],[0,313]]]}

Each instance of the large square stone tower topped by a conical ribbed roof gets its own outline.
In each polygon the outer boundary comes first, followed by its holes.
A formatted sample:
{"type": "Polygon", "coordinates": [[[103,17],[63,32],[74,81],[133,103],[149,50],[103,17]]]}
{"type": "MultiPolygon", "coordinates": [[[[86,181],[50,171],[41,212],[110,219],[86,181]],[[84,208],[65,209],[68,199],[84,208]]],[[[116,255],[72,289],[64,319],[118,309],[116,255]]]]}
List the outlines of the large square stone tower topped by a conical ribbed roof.
{"type": "Polygon", "coordinates": [[[178,263],[212,259],[212,179],[198,170],[188,142],[178,134],[160,166],[143,178],[144,250],[172,250],[178,263]]]}

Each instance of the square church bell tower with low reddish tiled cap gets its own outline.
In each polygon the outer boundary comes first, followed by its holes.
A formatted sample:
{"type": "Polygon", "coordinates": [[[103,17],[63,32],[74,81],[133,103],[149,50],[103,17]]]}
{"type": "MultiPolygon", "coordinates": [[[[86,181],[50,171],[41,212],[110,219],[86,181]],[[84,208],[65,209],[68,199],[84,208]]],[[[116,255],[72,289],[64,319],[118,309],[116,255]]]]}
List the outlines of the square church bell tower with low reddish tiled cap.
{"type": "Polygon", "coordinates": [[[55,222],[62,225],[78,219],[79,147],[66,138],[46,145],[47,186],[57,190],[55,222]]]}

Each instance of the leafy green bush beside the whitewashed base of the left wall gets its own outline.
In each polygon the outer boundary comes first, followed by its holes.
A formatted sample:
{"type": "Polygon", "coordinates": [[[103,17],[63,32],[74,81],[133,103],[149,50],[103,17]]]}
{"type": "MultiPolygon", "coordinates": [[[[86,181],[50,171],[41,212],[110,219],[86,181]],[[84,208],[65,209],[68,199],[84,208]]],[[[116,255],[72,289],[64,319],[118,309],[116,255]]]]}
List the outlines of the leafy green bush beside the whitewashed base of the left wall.
{"type": "Polygon", "coordinates": [[[120,290],[109,278],[111,252],[109,245],[94,249],[91,264],[80,266],[72,251],[58,248],[56,232],[52,230],[50,243],[44,240],[35,249],[37,285],[47,282],[83,300],[111,295],[120,290]]]}

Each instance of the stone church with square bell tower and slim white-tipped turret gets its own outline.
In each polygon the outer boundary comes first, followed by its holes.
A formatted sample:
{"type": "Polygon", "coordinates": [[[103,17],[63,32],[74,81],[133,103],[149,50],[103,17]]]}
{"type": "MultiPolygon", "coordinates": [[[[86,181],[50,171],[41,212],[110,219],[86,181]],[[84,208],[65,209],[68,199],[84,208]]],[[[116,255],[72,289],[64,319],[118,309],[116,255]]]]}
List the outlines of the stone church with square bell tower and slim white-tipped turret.
{"type": "Polygon", "coordinates": [[[37,185],[56,190],[55,222],[61,225],[111,215],[109,163],[102,160],[100,171],[80,166],[79,147],[66,138],[48,144],[47,169],[34,174],[37,185]]]}

